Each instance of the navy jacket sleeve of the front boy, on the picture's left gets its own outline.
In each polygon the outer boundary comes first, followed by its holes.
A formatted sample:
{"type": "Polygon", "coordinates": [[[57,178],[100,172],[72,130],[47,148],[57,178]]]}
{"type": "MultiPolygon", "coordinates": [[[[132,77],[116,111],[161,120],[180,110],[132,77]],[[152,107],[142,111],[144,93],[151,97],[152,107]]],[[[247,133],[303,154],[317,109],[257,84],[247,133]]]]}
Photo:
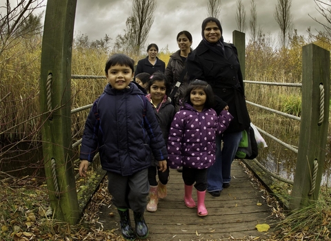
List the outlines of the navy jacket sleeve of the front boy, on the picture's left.
{"type": "Polygon", "coordinates": [[[88,160],[92,163],[94,155],[98,151],[98,134],[99,134],[99,120],[95,116],[94,109],[97,109],[97,101],[94,101],[88,118],[86,119],[83,138],[81,140],[81,149],[79,158],[81,160],[88,160]]]}

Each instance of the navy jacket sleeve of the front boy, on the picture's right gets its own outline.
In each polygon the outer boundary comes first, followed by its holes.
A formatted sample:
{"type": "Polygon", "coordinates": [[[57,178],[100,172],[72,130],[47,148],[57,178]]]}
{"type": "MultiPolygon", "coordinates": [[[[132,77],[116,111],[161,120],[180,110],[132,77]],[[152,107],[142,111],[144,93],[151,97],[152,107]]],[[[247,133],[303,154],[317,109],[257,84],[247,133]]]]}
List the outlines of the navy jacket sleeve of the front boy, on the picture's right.
{"type": "Polygon", "coordinates": [[[146,105],[146,116],[144,117],[144,123],[148,136],[150,137],[150,148],[152,149],[155,160],[167,160],[168,151],[165,147],[161,127],[157,121],[157,117],[154,114],[154,109],[149,103],[146,105]]]}

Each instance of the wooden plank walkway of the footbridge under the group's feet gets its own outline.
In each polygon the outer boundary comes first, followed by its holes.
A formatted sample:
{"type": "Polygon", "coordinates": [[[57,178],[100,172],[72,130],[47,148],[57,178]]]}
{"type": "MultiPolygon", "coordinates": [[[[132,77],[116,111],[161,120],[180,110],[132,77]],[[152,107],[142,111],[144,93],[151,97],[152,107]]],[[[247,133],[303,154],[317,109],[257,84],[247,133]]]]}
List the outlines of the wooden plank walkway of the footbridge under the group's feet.
{"type": "MultiPolygon", "coordinates": [[[[185,207],[183,202],[184,187],[181,173],[170,170],[168,182],[168,196],[159,200],[158,209],[154,213],[146,211],[145,219],[150,235],[148,240],[228,240],[263,237],[263,233],[255,229],[256,224],[274,223],[271,217],[271,207],[268,207],[263,193],[259,191],[256,182],[251,182],[239,160],[232,163],[232,180],[228,189],[223,189],[221,196],[213,197],[209,193],[205,196],[205,206],[208,216],[197,216],[197,209],[185,207]],[[257,203],[261,205],[257,205],[257,203]]],[[[197,200],[196,191],[193,198],[197,200]]],[[[119,229],[117,210],[102,207],[99,222],[105,229],[119,229]],[[114,216],[109,216],[113,212],[114,216]]],[[[131,212],[131,211],[130,211],[131,212]]],[[[130,213],[133,221],[133,214],[130,213]]]]}

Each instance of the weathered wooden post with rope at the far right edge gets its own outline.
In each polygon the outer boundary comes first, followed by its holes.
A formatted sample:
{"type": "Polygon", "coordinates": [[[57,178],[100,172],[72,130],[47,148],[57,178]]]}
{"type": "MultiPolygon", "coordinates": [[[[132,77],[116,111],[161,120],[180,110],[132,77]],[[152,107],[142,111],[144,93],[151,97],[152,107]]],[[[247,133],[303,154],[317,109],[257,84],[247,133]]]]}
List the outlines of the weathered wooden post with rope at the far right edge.
{"type": "Polygon", "coordinates": [[[314,44],[302,48],[302,103],[299,151],[290,209],[319,197],[330,101],[330,52],[314,44]]]}

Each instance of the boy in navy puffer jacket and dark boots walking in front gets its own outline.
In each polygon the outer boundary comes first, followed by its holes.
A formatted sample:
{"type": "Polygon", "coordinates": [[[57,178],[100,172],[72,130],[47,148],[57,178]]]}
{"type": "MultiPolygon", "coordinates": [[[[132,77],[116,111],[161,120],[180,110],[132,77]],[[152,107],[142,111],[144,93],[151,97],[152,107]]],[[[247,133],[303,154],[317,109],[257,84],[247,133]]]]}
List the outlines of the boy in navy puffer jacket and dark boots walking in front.
{"type": "Polygon", "coordinates": [[[101,166],[107,171],[108,191],[121,218],[123,238],[148,237],[143,218],[148,191],[150,149],[159,170],[167,169],[162,132],[146,96],[131,83],[134,61],[124,54],[110,56],[105,67],[109,84],[94,101],[81,143],[79,174],[86,176],[88,163],[99,149],[101,166]],[[134,213],[135,231],[129,210],[134,213]]]}

